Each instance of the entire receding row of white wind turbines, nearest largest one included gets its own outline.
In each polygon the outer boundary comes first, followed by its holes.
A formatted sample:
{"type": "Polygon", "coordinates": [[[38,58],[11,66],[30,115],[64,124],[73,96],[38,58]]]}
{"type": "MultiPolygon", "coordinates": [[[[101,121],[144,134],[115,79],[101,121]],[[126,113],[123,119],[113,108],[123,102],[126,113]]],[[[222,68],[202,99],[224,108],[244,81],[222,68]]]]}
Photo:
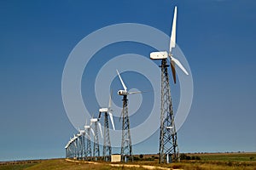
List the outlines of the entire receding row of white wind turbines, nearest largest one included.
{"type": "MultiPolygon", "coordinates": [[[[178,160],[178,148],[177,148],[177,132],[174,123],[174,115],[172,111],[172,99],[171,89],[169,84],[169,76],[167,68],[167,58],[169,56],[170,64],[172,68],[172,77],[174,83],[176,83],[176,68],[177,65],[186,75],[189,75],[188,71],[183,67],[180,61],[173,57],[172,48],[176,45],[176,22],[177,22],[177,7],[174,9],[174,16],[172,21],[172,35],[170,39],[169,51],[153,52],[150,54],[150,59],[161,60],[161,109],[160,109],[160,163],[177,161],[178,160]]],[[[149,36],[149,35],[148,35],[149,36]]],[[[128,115],[128,99],[129,94],[139,94],[142,92],[129,92],[128,88],[122,77],[117,70],[117,75],[124,89],[119,90],[118,94],[123,96],[123,109],[121,112],[122,117],[122,140],[121,140],[121,161],[133,160],[132,157],[132,144],[130,133],[130,120],[128,115]]],[[[99,109],[97,117],[92,116],[90,119],[90,125],[85,123],[84,130],[79,130],[77,135],[69,140],[65,149],[67,158],[77,158],[83,160],[98,160],[111,161],[112,147],[109,136],[109,119],[112,124],[113,130],[115,130],[113,122],[113,114],[111,109],[112,92],[109,96],[108,107],[99,109]],[[104,116],[104,129],[102,132],[101,118],[104,116]],[[109,119],[108,119],[109,118],[109,119]],[[98,129],[103,138],[103,152],[100,155],[99,135],[98,129]],[[90,133],[92,135],[90,135],[90,133]],[[91,139],[93,137],[93,139],[91,139]],[[93,141],[93,150],[91,150],[90,141],[93,141]]]]}

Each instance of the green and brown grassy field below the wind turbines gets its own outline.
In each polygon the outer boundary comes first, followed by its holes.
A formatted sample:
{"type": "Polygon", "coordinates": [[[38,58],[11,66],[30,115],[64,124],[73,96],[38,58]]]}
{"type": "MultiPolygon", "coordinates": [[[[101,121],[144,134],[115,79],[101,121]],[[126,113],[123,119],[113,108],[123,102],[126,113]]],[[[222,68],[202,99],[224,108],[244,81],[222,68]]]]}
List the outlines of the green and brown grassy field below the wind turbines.
{"type": "MultiPolygon", "coordinates": [[[[189,160],[181,161],[172,164],[158,164],[157,159],[151,159],[146,161],[148,158],[156,158],[154,155],[143,156],[143,159],[139,161],[130,162],[127,164],[110,164],[106,162],[93,162],[86,163],[84,161],[66,161],[65,159],[52,159],[44,161],[22,161],[22,162],[8,162],[0,163],[0,170],[79,170],[79,169],[145,169],[143,166],[155,166],[155,167],[166,167],[169,169],[189,169],[189,170],[204,170],[204,169],[224,169],[224,170],[256,170],[256,153],[214,153],[214,154],[187,154],[188,156],[200,156],[201,160],[189,160]],[[114,166],[114,167],[113,167],[114,166]],[[130,166],[130,167],[128,167],[130,166]],[[137,166],[137,167],[134,167],[137,166]]],[[[151,168],[151,167],[146,167],[151,168]]]]}

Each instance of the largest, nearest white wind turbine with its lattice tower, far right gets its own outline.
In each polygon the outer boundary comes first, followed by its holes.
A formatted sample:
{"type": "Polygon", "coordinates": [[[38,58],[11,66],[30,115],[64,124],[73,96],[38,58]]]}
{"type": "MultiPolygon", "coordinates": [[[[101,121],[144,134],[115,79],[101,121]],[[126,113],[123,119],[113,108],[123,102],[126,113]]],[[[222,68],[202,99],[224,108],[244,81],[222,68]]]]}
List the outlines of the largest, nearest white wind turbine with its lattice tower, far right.
{"type": "Polygon", "coordinates": [[[172,156],[174,161],[177,161],[179,157],[177,148],[177,132],[172,111],[171,89],[167,71],[167,68],[169,67],[169,65],[167,65],[168,56],[171,63],[174,83],[176,83],[175,65],[177,65],[186,75],[189,75],[181,62],[174,58],[172,54],[172,48],[175,48],[176,46],[176,23],[177,7],[174,8],[169,52],[162,51],[150,54],[150,59],[161,59],[160,163],[164,161],[169,162],[169,155],[172,156]],[[170,130],[172,130],[172,133],[169,133],[170,130]]]}

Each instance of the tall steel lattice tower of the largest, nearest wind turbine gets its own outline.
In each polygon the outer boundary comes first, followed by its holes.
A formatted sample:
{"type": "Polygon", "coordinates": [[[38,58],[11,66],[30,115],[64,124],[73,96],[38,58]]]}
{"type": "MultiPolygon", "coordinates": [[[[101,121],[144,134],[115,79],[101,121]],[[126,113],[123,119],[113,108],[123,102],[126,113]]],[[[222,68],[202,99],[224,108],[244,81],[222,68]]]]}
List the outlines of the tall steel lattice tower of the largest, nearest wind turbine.
{"type": "Polygon", "coordinates": [[[177,161],[177,133],[166,59],[161,63],[160,163],[177,161]]]}

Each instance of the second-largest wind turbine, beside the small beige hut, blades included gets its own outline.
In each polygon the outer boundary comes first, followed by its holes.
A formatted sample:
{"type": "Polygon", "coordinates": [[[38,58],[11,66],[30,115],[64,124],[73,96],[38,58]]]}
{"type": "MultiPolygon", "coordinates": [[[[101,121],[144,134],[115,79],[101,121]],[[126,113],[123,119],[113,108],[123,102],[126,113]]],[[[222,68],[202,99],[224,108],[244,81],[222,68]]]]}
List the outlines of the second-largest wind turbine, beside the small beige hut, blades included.
{"type": "Polygon", "coordinates": [[[126,161],[127,157],[130,157],[130,160],[133,160],[132,157],[132,147],[131,147],[131,133],[130,133],[130,121],[129,121],[129,115],[128,115],[128,94],[141,94],[142,92],[128,92],[127,87],[125,86],[125,82],[122,80],[122,77],[119,74],[119,71],[117,71],[117,74],[119,76],[119,80],[122,83],[123,90],[119,90],[118,94],[123,96],[123,110],[122,110],[122,143],[121,143],[121,159],[122,161],[126,161]]]}

